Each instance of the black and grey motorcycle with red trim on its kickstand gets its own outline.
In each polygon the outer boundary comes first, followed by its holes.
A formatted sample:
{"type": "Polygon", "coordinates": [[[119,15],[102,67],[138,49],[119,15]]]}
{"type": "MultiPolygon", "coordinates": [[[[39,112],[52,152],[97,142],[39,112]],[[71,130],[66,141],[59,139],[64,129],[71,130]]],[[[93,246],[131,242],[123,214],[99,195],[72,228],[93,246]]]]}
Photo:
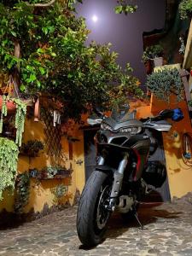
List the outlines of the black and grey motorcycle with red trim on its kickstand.
{"type": "Polygon", "coordinates": [[[183,119],[180,108],[166,109],[154,118],[136,119],[124,106],[110,117],[96,110],[99,118],[88,119],[90,125],[101,124],[96,133],[97,165],[87,180],[79,200],[77,231],[86,247],[101,243],[112,212],[123,218],[137,217],[137,207],[149,186],[160,188],[166,180],[165,163],[149,161],[158,148],[153,131],[170,131],[166,119],[183,119]]]}

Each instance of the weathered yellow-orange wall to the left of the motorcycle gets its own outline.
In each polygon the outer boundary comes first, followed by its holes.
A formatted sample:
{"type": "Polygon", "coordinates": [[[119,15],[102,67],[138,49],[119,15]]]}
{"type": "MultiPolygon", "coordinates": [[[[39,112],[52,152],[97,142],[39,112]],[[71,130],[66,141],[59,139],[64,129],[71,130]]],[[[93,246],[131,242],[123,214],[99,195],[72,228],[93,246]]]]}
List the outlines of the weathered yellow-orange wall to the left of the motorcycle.
{"type": "MultiPolygon", "coordinates": [[[[73,126],[73,137],[79,139],[78,142],[73,143],[73,160],[68,160],[68,140],[67,136],[61,138],[62,154],[65,155],[65,161],[63,161],[63,166],[67,169],[72,166],[73,173],[72,177],[64,179],[48,179],[38,181],[35,178],[30,178],[30,198],[27,206],[25,207],[25,212],[29,212],[34,209],[34,212],[41,212],[44,205],[47,204],[49,207],[58,203],[52,189],[58,184],[63,183],[68,186],[68,191],[65,196],[61,198],[59,203],[65,204],[69,202],[73,204],[74,195],[76,189],[80,192],[84,185],[84,139],[83,131],[79,130],[79,125],[73,126]],[[77,164],[78,160],[82,160],[81,165],[77,164]]],[[[34,122],[32,119],[26,119],[25,132],[23,134],[23,143],[29,140],[37,139],[42,143],[45,142],[44,123],[34,122]]],[[[38,157],[28,157],[20,155],[18,162],[18,173],[26,172],[29,169],[37,168],[41,170],[45,166],[53,166],[54,160],[49,157],[44,151],[42,151],[38,157]]],[[[0,202],[0,211],[4,208],[8,212],[13,212],[14,210],[14,195],[9,195],[4,192],[4,199],[0,202]]]]}

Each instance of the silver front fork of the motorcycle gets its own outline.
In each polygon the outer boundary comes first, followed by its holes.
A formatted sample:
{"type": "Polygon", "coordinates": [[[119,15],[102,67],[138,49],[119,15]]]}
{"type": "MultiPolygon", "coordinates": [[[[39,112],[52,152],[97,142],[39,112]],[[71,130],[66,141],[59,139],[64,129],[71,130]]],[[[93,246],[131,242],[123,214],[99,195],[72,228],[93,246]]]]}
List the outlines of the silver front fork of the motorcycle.
{"type": "MultiPolygon", "coordinates": [[[[121,160],[119,162],[118,170],[115,171],[113,174],[113,177],[114,177],[113,187],[111,190],[109,205],[107,206],[108,210],[112,211],[112,212],[115,210],[119,191],[120,191],[122,183],[123,183],[123,177],[124,177],[125,168],[127,166],[128,158],[129,158],[129,154],[125,154],[123,160],[121,160]]],[[[105,160],[101,156],[98,160],[98,165],[102,166],[102,165],[104,165],[104,162],[105,162],[105,160]]]]}

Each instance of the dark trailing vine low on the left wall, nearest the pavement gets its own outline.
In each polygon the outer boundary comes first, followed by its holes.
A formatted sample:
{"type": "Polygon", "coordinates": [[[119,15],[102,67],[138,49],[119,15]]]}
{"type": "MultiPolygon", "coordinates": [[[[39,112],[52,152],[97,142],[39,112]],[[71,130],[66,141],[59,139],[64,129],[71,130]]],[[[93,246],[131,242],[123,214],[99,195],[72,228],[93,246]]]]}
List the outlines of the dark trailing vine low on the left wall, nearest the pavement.
{"type": "Polygon", "coordinates": [[[29,201],[30,176],[28,172],[23,172],[17,176],[15,212],[22,213],[29,201]]]}

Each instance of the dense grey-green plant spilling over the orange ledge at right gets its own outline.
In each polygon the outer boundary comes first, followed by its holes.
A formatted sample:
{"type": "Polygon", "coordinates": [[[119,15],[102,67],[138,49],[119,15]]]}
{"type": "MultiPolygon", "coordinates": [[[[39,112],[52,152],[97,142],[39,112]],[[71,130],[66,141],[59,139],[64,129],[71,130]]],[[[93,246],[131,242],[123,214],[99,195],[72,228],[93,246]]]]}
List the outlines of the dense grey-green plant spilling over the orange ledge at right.
{"type": "Polygon", "coordinates": [[[173,94],[177,101],[183,99],[183,83],[177,68],[160,69],[147,77],[147,87],[157,98],[169,102],[173,94]]]}

